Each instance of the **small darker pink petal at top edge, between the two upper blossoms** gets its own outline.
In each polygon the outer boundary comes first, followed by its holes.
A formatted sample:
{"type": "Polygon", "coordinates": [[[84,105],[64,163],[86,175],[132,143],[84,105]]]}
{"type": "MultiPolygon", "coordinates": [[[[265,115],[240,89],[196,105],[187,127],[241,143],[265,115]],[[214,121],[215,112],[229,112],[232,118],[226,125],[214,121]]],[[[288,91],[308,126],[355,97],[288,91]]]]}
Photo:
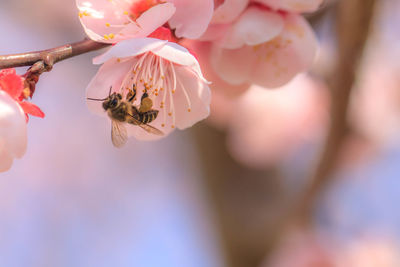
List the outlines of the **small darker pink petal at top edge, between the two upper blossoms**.
{"type": "Polygon", "coordinates": [[[211,23],[225,24],[233,22],[246,9],[248,3],[249,0],[225,0],[214,10],[211,23]]]}

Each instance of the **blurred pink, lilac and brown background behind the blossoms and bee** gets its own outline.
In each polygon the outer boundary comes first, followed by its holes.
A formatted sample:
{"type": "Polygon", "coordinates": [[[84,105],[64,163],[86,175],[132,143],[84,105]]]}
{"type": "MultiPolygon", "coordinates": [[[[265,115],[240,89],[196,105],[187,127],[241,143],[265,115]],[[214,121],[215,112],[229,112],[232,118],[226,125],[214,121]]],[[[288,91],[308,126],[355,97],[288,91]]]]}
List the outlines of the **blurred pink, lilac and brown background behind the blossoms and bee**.
{"type": "MultiPolygon", "coordinates": [[[[26,155],[0,174],[0,266],[400,266],[400,2],[376,1],[340,149],[324,161],[337,5],[306,15],[321,44],[309,73],[214,90],[209,119],[157,142],[115,149],[109,121],[87,110],[99,52],[44,73],[32,102],[46,118],[31,118],[26,155]],[[312,178],[325,182],[309,191],[312,178]]],[[[0,1],[0,54],[79,41],[77,17],[72,0],[0,1]]]]}

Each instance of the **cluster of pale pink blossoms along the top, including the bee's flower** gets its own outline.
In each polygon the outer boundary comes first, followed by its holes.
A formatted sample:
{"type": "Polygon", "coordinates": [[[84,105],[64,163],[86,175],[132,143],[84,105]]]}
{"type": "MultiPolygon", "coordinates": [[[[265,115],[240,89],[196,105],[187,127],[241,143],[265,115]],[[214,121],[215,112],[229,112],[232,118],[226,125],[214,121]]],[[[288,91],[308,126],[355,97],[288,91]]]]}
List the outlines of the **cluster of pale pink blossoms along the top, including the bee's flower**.
{"type": "MultiPolygon", "coordinates": [[[[190,127],[209,115],[210,87],[228,94],[251,84],[274,88],[307,70],[317,42],[301,13],[315,11],[321,2],[77,0],[87,35],[113,44],[93,60],[103,65],[87,97],[104,100],[117,93],[127,99],[136,89],[133,103],[139,107],[148,95],[158,111],[150,124],[164,136],[190,127]]],[[[101,104],[88,100],[90,110],[110,117],[101,104]]],[[[161,136],[133,124],[127,135],[161,136]]]]}

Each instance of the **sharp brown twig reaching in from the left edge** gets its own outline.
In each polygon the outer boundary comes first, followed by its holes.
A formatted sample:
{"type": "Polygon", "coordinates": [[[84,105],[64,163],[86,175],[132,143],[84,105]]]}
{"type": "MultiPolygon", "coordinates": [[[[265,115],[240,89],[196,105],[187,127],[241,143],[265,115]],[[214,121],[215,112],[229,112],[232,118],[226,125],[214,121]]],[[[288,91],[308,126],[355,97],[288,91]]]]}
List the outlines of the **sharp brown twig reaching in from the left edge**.
{"type": "Polygon", "coordinates": [[[37,62],[43,62],[43,71],[49,71],[53,65],[64,59],[95,51],[109,44],[98,43],[92,40],[67,44],[42,51],[27,52],[13,55],[0,56],[0,69],[32,66],[37,62]]]}

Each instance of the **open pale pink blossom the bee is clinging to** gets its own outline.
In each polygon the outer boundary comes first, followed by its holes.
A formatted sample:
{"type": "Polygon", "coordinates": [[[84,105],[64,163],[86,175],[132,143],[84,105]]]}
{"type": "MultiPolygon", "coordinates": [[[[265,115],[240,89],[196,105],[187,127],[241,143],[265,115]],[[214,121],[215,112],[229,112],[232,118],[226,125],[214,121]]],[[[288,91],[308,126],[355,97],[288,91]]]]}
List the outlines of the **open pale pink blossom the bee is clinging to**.
{"type": "MultiPolygon", "coordinates": [[[[203,78],[195,57],[184,47],[153,38],[119,42],[93,60],[103,64],[87,88],[89,98],[104,99],[117,92],[126,99],[136,87],[134,105],[139,106],[145,90],[158,110],[157,118],[149,125],[169,134],[175,127],[184,129],[209,114],[210,89],[203,78]]],[[[88,101],[91,111],[106,115],[101,102],[88,101]]],[[[125,124],[128,135],[141,140],[154,140],[137,125],[125,124]]]]}

